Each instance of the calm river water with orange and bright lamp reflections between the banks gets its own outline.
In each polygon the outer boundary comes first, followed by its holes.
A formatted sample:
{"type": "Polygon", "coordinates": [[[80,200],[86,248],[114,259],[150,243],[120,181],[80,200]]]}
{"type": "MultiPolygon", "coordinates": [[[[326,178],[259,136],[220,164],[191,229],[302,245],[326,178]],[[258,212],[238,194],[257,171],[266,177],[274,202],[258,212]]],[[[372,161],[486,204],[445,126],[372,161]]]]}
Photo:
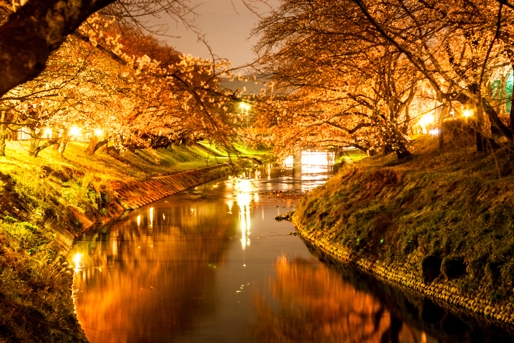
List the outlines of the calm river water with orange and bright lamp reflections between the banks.
{"type": "Polygon", "coordinates": [[[331,177],[266,165],[127,212],[69,259],[74,301],[97,342],[498,342],[508,328],[333,261],[274,217],[331,177]],[[301,175],[301,176],[299,176],[301,175]]]}

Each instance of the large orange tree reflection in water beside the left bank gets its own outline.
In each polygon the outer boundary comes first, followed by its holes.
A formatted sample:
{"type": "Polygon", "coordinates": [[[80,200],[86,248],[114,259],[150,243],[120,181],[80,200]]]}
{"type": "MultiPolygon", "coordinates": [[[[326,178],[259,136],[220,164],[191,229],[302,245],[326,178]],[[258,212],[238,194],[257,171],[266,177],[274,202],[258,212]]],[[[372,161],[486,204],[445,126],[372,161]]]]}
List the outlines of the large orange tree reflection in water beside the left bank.
{"type": "Polygon", "coordinates": [[[215,268],[224,263],[237,216],[223,201],[145,212],[75,247],[84,251],[75,255],[83,256],[76,261],[83,265],[75,275],[76,309],[91,342],[171,341],[214,311],[215,268]]]}

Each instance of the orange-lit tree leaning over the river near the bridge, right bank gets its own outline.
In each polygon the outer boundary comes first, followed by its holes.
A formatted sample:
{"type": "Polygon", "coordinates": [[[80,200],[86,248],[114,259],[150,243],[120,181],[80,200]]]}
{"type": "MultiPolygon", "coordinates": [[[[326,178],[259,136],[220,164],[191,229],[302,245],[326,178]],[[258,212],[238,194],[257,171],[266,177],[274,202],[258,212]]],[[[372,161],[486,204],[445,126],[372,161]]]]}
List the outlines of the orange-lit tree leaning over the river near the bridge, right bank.
{"type": "Polygon", "coordinates": [[[408,157],[420,74],[361,25],[355,4],[322,3],[286,1],[255,29],[262,36],[256,49],[267,52],[262,73],[277,82],[287,109],[268,119],[279,148],[355,146],[408,157]]]}

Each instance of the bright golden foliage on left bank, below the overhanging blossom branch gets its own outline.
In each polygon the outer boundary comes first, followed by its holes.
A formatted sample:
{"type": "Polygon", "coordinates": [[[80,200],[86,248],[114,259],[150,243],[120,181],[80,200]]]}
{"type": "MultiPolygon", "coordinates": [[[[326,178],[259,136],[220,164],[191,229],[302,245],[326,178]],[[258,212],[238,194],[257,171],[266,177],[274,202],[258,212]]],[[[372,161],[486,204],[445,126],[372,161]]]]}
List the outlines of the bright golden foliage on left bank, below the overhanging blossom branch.
{"type": "MultiPolygon", "coordinates": [[[[148,59],[148,52],[181,68],[183,60],[173,48],[136,31],[127,30],[126,34],[127,44],[133,44],[126,49],[136,58],[148,59]]],[[[213,82],[194,74],[193,85],[201,84],[203,88],[213,82]]],[[[14,88],[4,98],[9,98],[4,100],[8,117],[15,118],[4,137],[22,125],[33,127],[34,135],[51,128],[54,138],[60,135],[61,153],[71,138],[67,131],[72,125],[81,127],[84,135],[91,135],[97,128],[103,130],[103,136],[91,142],[91,153],[109,140],[121,150],[159,147],[192,136],[193,132],[215,134],[214,129],[226,128],[216,117],[206,125],[201,101],[198,103],[181,87],[138,74],[133,67],[114,61],[75,37],[53,53],[38,78],[14,88]]],[[[214,111],[219,111],[213,105],[216,104],[211,105],[214,111]]],[[[214,111],[211,109],[209,115],[214,111]]]]}

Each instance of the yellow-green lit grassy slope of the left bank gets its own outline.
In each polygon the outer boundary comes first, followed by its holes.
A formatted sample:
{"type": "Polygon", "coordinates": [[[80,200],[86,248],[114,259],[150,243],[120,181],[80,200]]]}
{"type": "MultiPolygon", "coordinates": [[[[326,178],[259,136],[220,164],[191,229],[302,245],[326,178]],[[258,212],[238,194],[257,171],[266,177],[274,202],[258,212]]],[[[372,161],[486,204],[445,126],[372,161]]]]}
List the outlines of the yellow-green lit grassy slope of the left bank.
{"type": "Polygon", "coordinates": [[[28,142],[9,142],[0,158],[0,341],[83,341],[71,301],[72,269],[57,231],[82,231],[77,215],[117,216],[116,189],[221,161],[196,148],[171,146],[123,155],[84,153],[69,144],[64,158],[49,148],[26,156],[28,142]]]}

